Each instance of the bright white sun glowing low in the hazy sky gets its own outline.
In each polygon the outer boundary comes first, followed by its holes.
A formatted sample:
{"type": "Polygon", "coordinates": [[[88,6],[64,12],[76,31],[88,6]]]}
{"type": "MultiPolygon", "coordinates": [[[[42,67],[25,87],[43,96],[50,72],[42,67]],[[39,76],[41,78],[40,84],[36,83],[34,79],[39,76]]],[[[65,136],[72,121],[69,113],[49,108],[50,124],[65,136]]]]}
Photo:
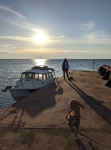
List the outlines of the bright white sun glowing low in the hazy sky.
{"type": "Polygon", "coordinates": [[[33,41],[39,45],[47,44],[48,39],[48,35],[46,34],[46,32],[43,31],[38,31],[33,37],[33,41]]]}

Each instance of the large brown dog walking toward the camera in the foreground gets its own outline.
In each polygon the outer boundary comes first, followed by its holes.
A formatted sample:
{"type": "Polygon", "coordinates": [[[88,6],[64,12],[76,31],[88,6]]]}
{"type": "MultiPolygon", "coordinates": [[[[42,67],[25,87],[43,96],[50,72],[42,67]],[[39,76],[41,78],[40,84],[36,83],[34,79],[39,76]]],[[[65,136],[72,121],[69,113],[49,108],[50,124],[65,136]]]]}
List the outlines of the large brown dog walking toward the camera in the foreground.
{"type": "Polygon", "coordinates": [[[70,100],[68,103],[69,112],[66,116],[66,119],[68,121],[68,125],[69,125],[71,132],[75,136],[75,139],[78,138],[77,133],[79,130],[80,119],[81,119],[80,107],[84,109],[83,105],[75,99],[70,100]]]}

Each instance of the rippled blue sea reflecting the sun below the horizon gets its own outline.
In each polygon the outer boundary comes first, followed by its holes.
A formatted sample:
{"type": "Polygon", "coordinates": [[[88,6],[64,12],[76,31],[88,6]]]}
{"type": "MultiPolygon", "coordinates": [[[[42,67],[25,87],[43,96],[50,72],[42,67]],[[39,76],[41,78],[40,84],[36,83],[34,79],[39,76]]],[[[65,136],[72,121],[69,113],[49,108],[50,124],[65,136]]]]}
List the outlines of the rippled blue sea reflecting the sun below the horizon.
{"type": "MultiPolygon", "coordinates": [[[[94,70],[107,64],[111,66],[111,59],[68,59],[70,71],[72,70],[94,70]]],[[[36,65],[46,65],[55,69],[56,77],[62,76],[63,59],[1,59],[0,60],[0,110],[10,106],[15,101],[8,92],[2,92],[9,85],[8,77],[20,78],[21,73],[36,65]]]]}

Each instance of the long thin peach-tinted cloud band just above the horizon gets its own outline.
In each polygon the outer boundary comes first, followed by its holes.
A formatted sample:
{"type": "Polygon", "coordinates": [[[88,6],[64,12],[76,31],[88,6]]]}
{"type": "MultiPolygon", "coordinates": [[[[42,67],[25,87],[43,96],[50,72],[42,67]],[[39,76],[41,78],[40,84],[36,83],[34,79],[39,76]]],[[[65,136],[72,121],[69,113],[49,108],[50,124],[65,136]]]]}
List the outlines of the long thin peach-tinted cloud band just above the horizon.
{"type": "MultiPolygon", "coordinates": [[[[79,50],[79,49],[73,49],[73,50],[70,50],[70,49],[51,49],[51,48],[46,48],[46,49],[43,49],[43,48],[32,48],[32,47],[24,47],[23,49],[20,49],[20,50],[15,50],[15,49],[10,49],[9,50],[5,50],[5,51],[1,51],[0,54],[5,54],[5,53],[9,53],[9,54],[16,54],[16,55],[21,55],[21,56],[25,56],[27,54],[27,56],[31,56],[31,55],[60,55],[62,57],[62,55],[77,55],[77,54],[80,54],[80,55],[88,55],[88,54],[91,54],[91,55],[98,55],[100,54],[100,51],[99,50],[96,50],[96,51],[93,51],[93,50],[79,50]],[[64,52],[63,52],[64,51],[64,52]]],[[[106,52],[104,50],[101,50],[101,55],[104,55],[106,54],[106,52]]],[[[110,53],[109,53],[110,54],[110,53]]]]}

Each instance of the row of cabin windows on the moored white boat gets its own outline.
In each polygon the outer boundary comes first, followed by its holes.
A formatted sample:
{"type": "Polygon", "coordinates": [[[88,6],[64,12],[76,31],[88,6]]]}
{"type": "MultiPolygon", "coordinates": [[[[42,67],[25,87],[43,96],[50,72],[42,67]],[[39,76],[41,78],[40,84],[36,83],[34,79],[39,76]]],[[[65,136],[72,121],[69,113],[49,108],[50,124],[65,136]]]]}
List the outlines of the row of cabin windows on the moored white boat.
{"type": "Polygon", "coordinates": [[[52,72],[39,74],[39,73],[32,73],[32,72],[24,72],[21,75],[21,79],[36,79],[36,80],[47,80],[52,78],[52,72]]]}

